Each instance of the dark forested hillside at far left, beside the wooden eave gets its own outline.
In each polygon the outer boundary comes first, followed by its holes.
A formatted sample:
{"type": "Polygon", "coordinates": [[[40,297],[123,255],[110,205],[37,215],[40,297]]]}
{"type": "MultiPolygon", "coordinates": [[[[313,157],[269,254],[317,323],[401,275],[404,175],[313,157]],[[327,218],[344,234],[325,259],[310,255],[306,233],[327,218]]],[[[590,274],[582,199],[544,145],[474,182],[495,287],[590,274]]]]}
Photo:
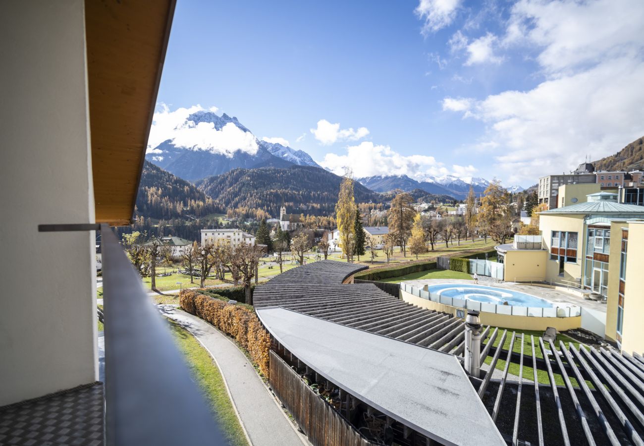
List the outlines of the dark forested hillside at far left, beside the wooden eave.
{"type": "Polygon", "coordinates": [[[149,218],[202,217],[220,212],[193,184],[146,161],[137,196],[137,215],[149,218]]]}

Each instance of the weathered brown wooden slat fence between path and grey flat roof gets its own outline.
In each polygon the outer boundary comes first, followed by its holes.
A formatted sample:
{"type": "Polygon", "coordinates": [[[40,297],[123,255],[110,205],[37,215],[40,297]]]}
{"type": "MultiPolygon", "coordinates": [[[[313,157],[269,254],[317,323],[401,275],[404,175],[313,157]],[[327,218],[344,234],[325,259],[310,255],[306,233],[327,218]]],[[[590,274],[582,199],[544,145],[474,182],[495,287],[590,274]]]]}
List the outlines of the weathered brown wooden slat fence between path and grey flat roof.
{"type": "Polygon", "coordinates": [[[270,386],[314,446],[372,446],[274,351],[270,386]]]}

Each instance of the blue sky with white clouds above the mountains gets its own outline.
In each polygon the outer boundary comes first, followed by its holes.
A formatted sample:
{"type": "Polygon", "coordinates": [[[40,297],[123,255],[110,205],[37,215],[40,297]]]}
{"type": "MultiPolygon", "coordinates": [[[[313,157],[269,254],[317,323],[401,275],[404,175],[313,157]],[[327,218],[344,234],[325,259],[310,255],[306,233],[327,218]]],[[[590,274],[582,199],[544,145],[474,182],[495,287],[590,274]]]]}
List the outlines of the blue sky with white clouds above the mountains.
{"type": "Polygon", "coordinates": [[[357,177],[529,186],[644,135],[641,23],[641,0],[181,0],[158,102],[357,177]]]}

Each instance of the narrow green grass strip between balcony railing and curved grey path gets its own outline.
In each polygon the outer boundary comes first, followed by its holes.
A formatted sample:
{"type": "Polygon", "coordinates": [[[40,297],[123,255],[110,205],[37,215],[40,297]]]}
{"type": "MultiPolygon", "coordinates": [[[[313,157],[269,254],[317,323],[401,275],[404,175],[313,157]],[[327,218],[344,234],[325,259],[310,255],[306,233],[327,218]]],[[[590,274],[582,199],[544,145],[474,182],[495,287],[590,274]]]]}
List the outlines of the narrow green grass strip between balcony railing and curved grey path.
{"type": "Polygon", "coordinates": [[[232,407],[222,374],[210,354],[186,329],[169,320],[175,342],[184,354],[194,380],[210,403],[214,418],[231,445],[248,445],[237,414],[232,407]]]}

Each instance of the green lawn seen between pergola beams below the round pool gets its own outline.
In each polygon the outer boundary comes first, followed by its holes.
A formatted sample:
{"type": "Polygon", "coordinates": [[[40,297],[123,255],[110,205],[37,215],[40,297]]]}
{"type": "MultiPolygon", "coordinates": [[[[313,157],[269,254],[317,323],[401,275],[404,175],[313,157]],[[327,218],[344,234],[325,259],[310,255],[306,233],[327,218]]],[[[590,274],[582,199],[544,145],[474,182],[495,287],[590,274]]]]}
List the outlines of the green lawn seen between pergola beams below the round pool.
{"type": "MultiPolygon", "coordinates": [[[[501,341],[501,336],[503,334],[503,330],[504,330],[504,328],[502,328],[502,327],[498,328],[497,339],[495,340],[495,342],[493,344],[494,347],[497,347],[499,342],[501,341]]],[[[492,334],[493,331],[494,331],[494,327],[490,327],[489,333],[492,334]]],[[[531,358],[532,357],[532,344],[531,344],[531,340],[530,340],[530,335],[535,336],[535,356],[537,358],[543,358],[544,357],[543,354],[541,353],[541,348],[539,347],[539,340],[538,340],[538,337],[542,336],[544,334],[543,331],[507,329],[506,341],[503,344],[504,349],[507,350],[507,349],[510,348],[510,342],[511,342],[512,332],[513,331],[516,333],[516,338],[515,338],[515,345],[512,347],[512,351],[515,351],[516,353],[521,352],[521,334],[523,333],[524,334],[524,358],[531,358]]],[[[563,341],[566,346],[569,344],[569,342],[571,342],[576,348],[579,348],[579,342],[576,342],[573,338],[571,338],[569,336],[566,336],[565,334],[562,334],[562,333],[557,334],[556,342],[554,342],[554,344],[557,347],[559,347],[559,341],[563,341]]],[[[544,343],[544,347],[547,350],[550,350],[550,346],[545,345],[545,343],[544,343]]],[[[506,357],[507,357],[506,354],[501,353],[501,356],[499,356],[498,361],[497,361],[497,367],[496,367],[497,369],[499,369],[501,371],[503,371],[505,369],[505,367],[506,367],[505,358],[506,357]]],[[[565,358],[562,358],[562,360],[563,360],[563,362],[565,362],[565,358]]],[[[485,363],[486,364],[491,364],[491,362],[492,362],[492,356],[488,356],[486,358],[486,360],[485,360],[485,363]]],[[[554,382],[557,385],[564,385],[564,378],[560,374],[557,373],[558,371],[559,371],[558,365],[553,363],[554,382]]],[[[508,369],[508,372],[518,376],[518,374],[519,374],[519,364],[510,363],[510,367],[508,369]]],[[[526,365],[524,365],[524,367],[523,367],[523,377],[527,378],[529,380],[534,380],[535,379],[535,374],[534,374],[534,371],[533,371],[532,367],[526,367],[526,365]]],[[[548,379],[548,373],[545,370],[537,370],[536,371],[536,377],[537,377],[537,380],[538,380],[539,383],[542,383],[542,384],[550,383],[549,379],[548,379]]],[[[570,378],[571,383],[573,384],[574,387],[579,387],[579,385],[577,383],[577,380],[574,378],[574,376],[569,376],[569,378],[570,378]]],[[[591,382],[587,382],[587,384],[592,389],[591,382]]]]}

